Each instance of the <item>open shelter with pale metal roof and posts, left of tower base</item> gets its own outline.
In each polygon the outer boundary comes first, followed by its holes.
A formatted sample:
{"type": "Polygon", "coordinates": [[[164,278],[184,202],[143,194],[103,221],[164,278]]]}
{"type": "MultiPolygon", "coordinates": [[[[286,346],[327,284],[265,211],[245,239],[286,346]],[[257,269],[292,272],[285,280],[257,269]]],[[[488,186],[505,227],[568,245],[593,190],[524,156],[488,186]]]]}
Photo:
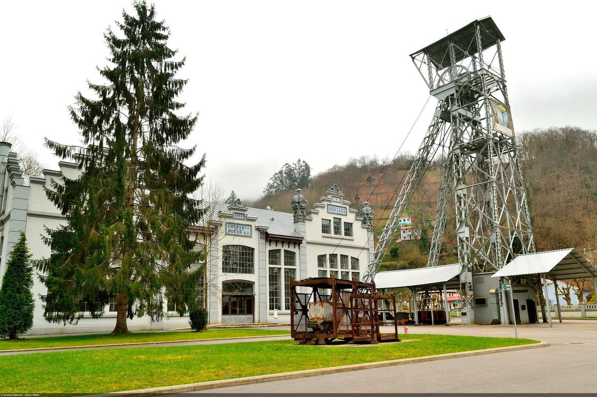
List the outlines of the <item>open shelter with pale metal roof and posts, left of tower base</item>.
{"type": "MultiPolygon", "coordinates": [[[[459,263],[418,269],[391,270],[378,272],[374,277],[374,281],[377,289],[406,287],[413,291],[414,320],[416,324],[418,324],[417,288],[438,288],[439,291],[443,292],[446,322],[448,322],[450,305],[448,305],[447,289],[460,289],[460,271],[461,266],[459,263]]],[[[433,306],[431,308],[431,321],[433,324],[433,306]]]]}

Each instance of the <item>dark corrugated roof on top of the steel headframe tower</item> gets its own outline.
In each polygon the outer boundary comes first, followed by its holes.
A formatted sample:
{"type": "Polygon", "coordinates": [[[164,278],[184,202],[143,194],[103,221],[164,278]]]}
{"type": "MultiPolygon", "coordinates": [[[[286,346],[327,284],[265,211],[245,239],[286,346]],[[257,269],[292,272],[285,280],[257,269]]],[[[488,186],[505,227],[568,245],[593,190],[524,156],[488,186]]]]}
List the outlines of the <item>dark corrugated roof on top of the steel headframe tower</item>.
{"type": "MultiPolygon", "coordinates": [[[[504,41],[504,35],[501,34],[496,23],[490,15],[487,17],[479,18],[464,27],[456,30],[456,32],[450,33],[442,39],[439,39],[433,44],[427,45],[425,48],[411,54],[411,57],[424,52],[429,57],[436,67],[447,67],[450,64],[450,57],[448,55],[448,44],[453,42],[459,48],[466,50],[469,47],[470,42],[475,38],[476,26],[481,25],[481,45],[483,49],[489,48],[496,44],[496,41],[504,41]]],[[[476,47],[475,51],[476,52],[476,47]]],[[[456,62],[463,60],[466,54],[458,51],[456,53],[456,62]]]]}

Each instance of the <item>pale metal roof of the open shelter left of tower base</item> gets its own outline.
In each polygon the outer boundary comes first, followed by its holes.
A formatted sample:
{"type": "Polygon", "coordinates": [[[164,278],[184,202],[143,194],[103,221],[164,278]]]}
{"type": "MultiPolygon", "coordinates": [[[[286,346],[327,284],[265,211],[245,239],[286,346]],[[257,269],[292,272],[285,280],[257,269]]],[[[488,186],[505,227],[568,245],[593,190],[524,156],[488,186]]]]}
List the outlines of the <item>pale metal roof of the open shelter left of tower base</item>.
{"type": "Polygon", "coordinates": [[[446,283],[448,288],[460,286],[460,264],[430,266],[418,269],[390,270],[375,275],[376,288],[435,286],[446,283]]]}

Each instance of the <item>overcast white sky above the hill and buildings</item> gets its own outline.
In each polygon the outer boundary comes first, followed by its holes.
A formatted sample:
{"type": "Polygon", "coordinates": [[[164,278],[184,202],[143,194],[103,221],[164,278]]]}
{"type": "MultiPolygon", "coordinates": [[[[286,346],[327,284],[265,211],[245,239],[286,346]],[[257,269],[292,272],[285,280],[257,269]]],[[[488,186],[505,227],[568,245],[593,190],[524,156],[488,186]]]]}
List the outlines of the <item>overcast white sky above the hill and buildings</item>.
{"type": "MultiPolygon", "coordinates": [[[[189,139],[205,173],[256,198],[298,157],[321,172],[349,157],[392,157],[429,92],[409,54],[492,15],[517,131],[597,126],[592,2],[162,1],[170,45],[186,56],[182,99],[199,121],[189,139]],[[461,11],[458,11],[461,10],[461,11]]],[[[0,119],[48,168],[42,138],[78,142],[67,106],[99,81],[103,32],[128,1],[0,3],[0,119]]],[[[404,149],[415,151],[431,100],[404,149]]]]}

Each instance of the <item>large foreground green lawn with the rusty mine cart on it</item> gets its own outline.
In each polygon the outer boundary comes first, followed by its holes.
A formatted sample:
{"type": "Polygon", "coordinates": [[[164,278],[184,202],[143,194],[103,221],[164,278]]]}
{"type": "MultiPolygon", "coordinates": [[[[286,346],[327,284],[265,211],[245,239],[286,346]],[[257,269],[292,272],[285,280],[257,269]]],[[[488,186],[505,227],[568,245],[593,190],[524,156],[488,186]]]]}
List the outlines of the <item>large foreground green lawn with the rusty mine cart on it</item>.
{"type": "Polygon", "coordinates": [[[413,334],[416,342],[298,346],[294,340],[0,356],[4,393],[103,393],[537,343],[413,334]]]}

